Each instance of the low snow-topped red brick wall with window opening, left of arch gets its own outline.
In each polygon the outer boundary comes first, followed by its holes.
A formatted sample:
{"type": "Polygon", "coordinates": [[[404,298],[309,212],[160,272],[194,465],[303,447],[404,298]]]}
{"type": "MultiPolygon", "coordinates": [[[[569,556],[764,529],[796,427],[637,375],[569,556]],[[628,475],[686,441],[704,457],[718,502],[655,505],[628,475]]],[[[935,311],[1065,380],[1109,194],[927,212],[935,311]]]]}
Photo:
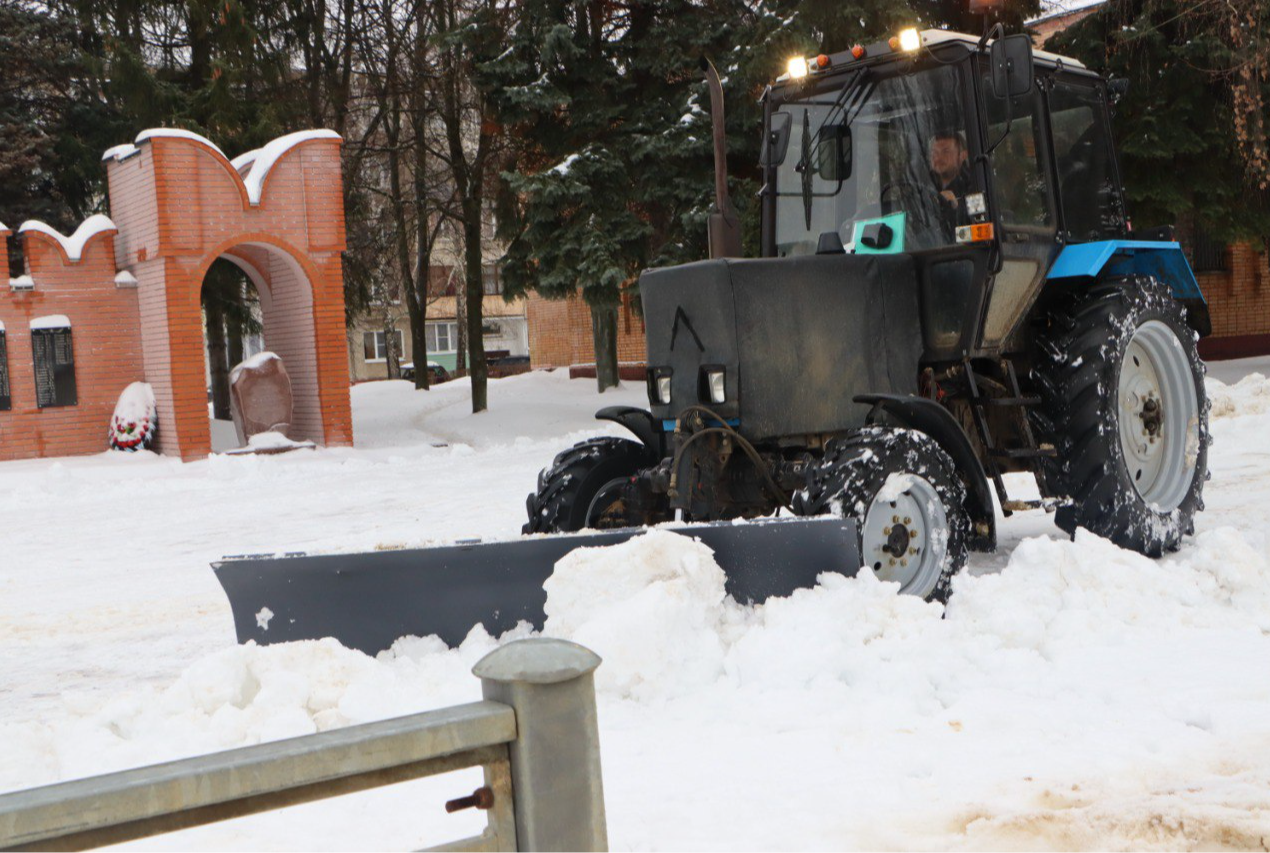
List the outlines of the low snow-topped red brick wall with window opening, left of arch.
{"type": "MultiPolygon", "coordinates": [[[[0,232],[0,270],[8,270],[8,232],[0,232]]],[[[114,405],[131,382],[144,378],[137,288],[114,283],[114,232],[107,231],[69,261],[42,234],[22,237],[33,291],[14,291],[0,278],[0,322],[9,349],[11,409],[0,411],[0,460],[100,453],[114,405]],[[64,314],[71,321],[77,402],[36,405],[30,321],[64,314]]]]}

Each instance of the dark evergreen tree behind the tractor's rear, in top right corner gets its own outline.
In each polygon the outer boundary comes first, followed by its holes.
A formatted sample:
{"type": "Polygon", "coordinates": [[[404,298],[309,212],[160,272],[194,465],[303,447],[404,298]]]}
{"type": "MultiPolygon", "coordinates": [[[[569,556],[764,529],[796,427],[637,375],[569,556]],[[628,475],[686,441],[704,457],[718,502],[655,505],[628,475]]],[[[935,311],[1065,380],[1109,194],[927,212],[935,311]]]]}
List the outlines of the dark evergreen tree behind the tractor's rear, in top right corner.
{"type": "Polygon", "coordinates": [[[1046,44],[1128,80],[1115,138],[1139,226],[1270,232],[1267,24],[1270,10],[1253,0],[1113,0],[1046,44]]]}

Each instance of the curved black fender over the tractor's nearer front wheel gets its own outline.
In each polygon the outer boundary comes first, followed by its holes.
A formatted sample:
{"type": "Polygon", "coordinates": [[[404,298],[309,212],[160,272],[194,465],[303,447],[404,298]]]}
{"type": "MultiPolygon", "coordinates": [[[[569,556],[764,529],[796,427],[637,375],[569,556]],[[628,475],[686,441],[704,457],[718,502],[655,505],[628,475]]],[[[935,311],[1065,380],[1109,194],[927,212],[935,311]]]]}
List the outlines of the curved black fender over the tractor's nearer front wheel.
{"type": "Polygon", "coordinates": [[[926,433],[952,457],[966,485],[965,508],[970,513],[973,529],[970,547],[975,551],[993,551],[997,547],[997,513],[992,503],[992,489],[983,463],[974,452],[970,437],[961,429],[947,409],[927,400],[899,393],[862,393],[855,402],[872,405],[867,421],[875,421],[879,411],[898,420],[909,429],[926,433]]]}

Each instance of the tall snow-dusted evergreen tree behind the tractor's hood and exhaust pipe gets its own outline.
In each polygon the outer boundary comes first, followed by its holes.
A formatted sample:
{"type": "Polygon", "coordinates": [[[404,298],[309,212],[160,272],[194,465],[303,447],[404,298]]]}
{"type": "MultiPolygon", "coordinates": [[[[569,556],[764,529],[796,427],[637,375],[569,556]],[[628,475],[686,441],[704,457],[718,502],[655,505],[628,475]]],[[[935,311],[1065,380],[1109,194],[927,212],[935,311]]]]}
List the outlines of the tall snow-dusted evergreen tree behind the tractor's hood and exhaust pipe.
{"type": "MultiPolygon", "coordinates": [[[[511,46],[478,77],[519,141],[499,208],[509,296],[580,292],[599,388],[616,382],[616,307],[645,267],[706,255],[714,201],[702,56],[724,81],[728,174],[758,253],[765,86],[792,55],[837,52],[903,27],[982,29],[942,0],[526,0],[511,46]]],[[[1012,8],[1021,25],[1038,6],[1012,8]]]]}

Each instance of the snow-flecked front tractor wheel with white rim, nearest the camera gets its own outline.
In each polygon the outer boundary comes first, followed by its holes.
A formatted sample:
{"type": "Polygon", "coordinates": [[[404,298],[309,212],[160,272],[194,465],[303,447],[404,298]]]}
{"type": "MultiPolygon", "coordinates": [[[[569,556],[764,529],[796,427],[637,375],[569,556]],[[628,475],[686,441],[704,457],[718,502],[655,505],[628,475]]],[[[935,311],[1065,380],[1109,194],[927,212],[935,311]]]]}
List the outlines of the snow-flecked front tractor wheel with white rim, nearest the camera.
{"type": "Polygon", "coordinates": [[[864,567],[899,592],[947,602],[970,515],[952,458],[925,433],[866,426],[831,442],[794,496],[799,515],[853,518],[864,567]]]}

